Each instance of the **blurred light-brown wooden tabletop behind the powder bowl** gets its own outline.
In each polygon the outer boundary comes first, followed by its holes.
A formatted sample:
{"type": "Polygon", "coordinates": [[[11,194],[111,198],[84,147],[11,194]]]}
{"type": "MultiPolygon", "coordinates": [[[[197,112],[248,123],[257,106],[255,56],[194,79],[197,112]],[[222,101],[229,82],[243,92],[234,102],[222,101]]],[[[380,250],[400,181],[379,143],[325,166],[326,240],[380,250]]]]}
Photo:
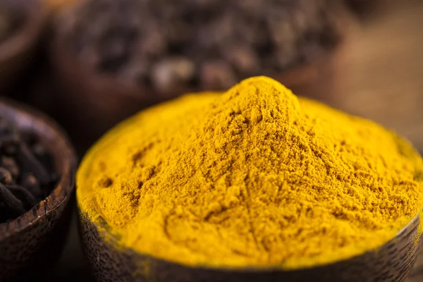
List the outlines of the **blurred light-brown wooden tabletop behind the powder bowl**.
{"type": "MultiPolygon", "coordinates": [[[[421,0],[386,0],[383,11],[351,27],[330,59],[295,71],[286,81],[297,94],[396,130],[423,152],[422,15],[421,0]]],[[[74,226],[65,255],[47,281],[92,281],[88,273],[74,226]]],[[[407,279],[418,281],[423,281],[423,255],[407,279]]]]}

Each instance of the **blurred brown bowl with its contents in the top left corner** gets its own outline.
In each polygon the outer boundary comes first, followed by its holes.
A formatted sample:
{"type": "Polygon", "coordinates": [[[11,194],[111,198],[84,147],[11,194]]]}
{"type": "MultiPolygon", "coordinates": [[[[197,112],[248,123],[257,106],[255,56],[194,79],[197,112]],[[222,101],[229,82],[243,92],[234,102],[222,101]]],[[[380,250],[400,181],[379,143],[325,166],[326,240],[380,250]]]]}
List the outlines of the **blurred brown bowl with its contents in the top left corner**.
{"type": "Polygon", "coordinates": [[[42,0],[0,1],[0,89],[25,70],[46,20],[47,9],[42,0]]]}

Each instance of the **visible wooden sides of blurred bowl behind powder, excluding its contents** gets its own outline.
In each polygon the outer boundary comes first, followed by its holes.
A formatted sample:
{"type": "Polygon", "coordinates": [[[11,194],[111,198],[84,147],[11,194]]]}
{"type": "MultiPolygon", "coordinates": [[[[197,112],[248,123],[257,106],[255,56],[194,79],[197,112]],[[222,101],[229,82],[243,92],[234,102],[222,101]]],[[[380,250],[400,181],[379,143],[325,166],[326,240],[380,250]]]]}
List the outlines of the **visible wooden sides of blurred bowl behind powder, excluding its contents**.
{"type": "MultiPolygon", "coordinates": [[[[175,89],[166,94],[145,85],[125,85],[108,75],[94,73],[78,63],[78,58],[61,38],[54,40],[49,52],[54,68],[55,92],[49,95],[47,111],[68,130],[79,154],[83,154],[106,130],[153,104],[178,97],[180,94],[204,91],[202,88],[175,89]],[[56,111],[60,109],[60,111],[56,111]],[[77,114],[75,114],[77,113],[77,114]],[[83,139],[80,138],[83,136],[83,139]]],[[[313,62],[278,73],[273,77],[296,94],[309,83],[328,82],[333,73],[331,52],[313,62]],[[321,66],[325,66],[321,68],[321,66]],[[323,79],[326,78],[326,79],[323,79]]],[[[314,99],[331,91],[331,85],[321,85],[314,99]]],[[[46,99],[43,99],[45,101],[46,99]]],[[[45,103],[43,103],[45,104],[45,103]]],[[[45,107],[45,105],[44,105],[45,107]]]]}

